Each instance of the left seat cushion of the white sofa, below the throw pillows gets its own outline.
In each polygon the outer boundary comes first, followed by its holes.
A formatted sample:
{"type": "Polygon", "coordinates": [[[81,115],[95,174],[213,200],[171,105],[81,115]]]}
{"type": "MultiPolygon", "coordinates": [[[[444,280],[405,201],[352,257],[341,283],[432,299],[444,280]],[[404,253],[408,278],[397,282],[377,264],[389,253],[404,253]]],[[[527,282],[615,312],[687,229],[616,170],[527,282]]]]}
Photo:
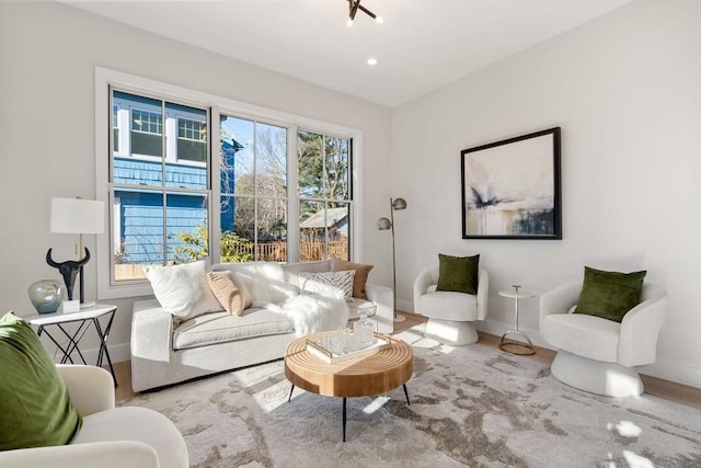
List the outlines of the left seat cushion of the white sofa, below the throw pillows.
{"type": "Polygon", "coordinates": [[[227,311],[205,313],[175,328],[173,349],[184,350],[294,331],[292,320],[266,309],[245,309],[240,316],[232,316],[227,311]]]}

